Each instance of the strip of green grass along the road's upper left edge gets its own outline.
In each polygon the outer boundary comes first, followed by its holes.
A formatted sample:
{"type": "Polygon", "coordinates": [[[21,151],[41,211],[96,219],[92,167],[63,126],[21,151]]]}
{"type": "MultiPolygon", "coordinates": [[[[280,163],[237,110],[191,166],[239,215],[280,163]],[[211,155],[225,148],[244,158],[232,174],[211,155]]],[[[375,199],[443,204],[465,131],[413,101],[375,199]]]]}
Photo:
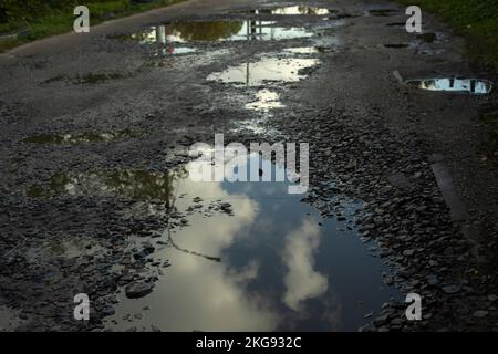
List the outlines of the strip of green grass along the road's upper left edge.
{"type": "MultiPolygon", "coordinates": [[[[134,13],[170,6],[183,0],[155,0],[149,3],[132,3],[131,0],[110,0],[98,3],[89,3],[90,25],[98,24],[103,21],[123,18],[134,13]]],[[[25,34],[18,39],[0,40],[0,53],[18,45],[48,38],[55,34],[73,31],[73,22],[76,17],[73,9],[65,11],[53,10],[30,22],[7,22],[0,23],[0,35],[15,32],[19,29],[28,29],[25,34]]]]}

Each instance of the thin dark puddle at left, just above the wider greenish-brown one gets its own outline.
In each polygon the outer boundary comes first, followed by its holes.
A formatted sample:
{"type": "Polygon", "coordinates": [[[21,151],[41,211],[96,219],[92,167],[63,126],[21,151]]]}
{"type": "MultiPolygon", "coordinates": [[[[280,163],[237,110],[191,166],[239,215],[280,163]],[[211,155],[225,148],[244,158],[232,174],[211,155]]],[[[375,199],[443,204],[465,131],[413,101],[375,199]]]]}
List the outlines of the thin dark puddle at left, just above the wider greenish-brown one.
{"type": "Polygon", "coordinates": [[[114,133],[41,134],[29,136],[23,142],[33,144],[80,144],[113,142],[136,136],[138,136],[137,133],[123,129],[114,133]]]}

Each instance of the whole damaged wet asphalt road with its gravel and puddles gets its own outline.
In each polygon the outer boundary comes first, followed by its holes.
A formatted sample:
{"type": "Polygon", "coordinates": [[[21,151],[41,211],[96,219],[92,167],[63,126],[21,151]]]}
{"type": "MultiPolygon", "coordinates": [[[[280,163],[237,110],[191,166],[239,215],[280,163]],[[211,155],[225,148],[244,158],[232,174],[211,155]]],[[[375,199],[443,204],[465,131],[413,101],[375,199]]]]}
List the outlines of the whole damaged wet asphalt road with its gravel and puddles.
{"type": "Polygon", "coordinates": [[[421,37],[393,3],[298,3],[185,2],[0,58],[0,329],[495,330],[492,79],[429,15],[421,37]],[[405,83],[454,76],[481,81],[405,83]],[[309,143],[308,195],[189,184],[215,134],[309,143]]]}

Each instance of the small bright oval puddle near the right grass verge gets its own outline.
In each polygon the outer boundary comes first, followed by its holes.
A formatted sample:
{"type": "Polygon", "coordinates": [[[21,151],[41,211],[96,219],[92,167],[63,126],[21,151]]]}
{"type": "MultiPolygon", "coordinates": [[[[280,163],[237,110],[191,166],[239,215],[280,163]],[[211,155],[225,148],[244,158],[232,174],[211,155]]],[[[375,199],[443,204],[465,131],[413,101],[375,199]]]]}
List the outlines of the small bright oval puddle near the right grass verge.
{"type": "Polygon", "coordinates": [[[471,94],[489,94],[492,82],[477,79],[427,79],[409,80],[406,82],[412,87],[428,91],[468,92],[471,94]]]}

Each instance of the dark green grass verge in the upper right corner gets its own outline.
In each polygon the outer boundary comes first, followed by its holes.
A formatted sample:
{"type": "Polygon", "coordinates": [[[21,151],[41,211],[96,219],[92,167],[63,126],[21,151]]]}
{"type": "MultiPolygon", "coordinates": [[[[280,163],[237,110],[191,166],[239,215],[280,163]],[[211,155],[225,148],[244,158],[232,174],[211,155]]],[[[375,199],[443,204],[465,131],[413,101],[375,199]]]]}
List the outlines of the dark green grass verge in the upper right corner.
{"type": "Polygon", "coordinates": [[[468,60],[498,73],[498,1],[497,0],[398,0],[417,4],[422,12],[435,13],[463,35],[468,60]]]}

